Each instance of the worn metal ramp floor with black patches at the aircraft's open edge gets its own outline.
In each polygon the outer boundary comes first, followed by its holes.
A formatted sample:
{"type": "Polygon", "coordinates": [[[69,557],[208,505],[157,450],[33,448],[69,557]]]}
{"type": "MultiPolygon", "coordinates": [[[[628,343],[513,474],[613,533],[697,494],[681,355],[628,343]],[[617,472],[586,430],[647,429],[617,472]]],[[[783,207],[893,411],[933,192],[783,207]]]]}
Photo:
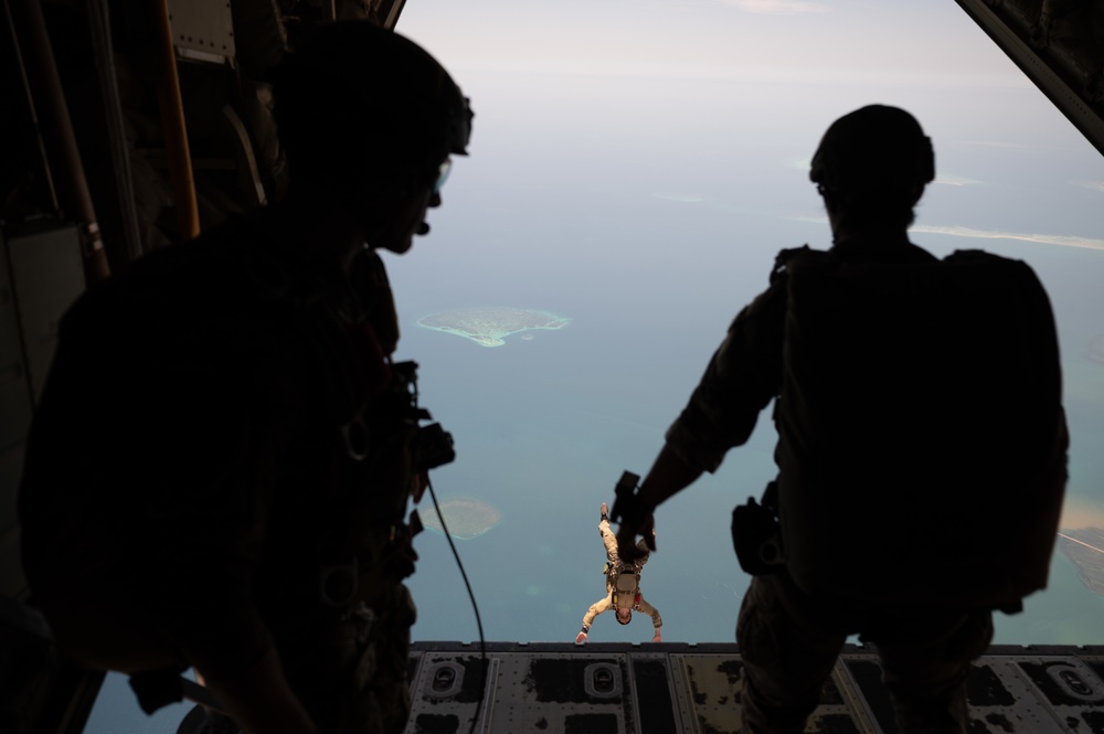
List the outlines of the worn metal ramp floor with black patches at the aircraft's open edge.
{"type": "MultiPolygon", "coordinates": [[[[406,734],[735,734],[735,645],[417,642],[406,734]]],[[[968,682],[970,734],[1104,734],[1104,646],[994,647],[968,682]]],[[[872,650],[847,646],[807,734],[895,734],[872,650]]]]}

